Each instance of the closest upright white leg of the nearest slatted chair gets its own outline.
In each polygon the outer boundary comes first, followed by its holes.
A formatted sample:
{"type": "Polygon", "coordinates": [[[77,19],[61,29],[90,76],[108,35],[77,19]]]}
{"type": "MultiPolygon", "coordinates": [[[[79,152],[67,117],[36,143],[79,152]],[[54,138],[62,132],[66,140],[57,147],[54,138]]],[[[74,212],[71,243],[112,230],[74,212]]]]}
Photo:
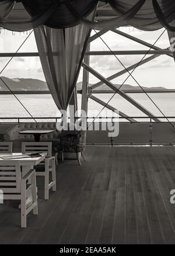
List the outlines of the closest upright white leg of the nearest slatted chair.
{"type": "Polygon", "coordinates": [[[26,218],[26,181],[21,183],[21,227],[27,226],[26,218]]]}

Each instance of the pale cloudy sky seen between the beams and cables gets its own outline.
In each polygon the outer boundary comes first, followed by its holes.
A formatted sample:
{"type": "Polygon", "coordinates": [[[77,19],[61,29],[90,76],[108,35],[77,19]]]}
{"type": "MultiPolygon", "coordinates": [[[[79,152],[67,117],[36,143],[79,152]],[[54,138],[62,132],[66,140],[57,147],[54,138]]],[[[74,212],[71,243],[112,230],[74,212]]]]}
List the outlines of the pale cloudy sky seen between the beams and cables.
{"type": "MultiPolygon", "coordinates": [[[[132,36],[139,39],[148,41],[153,44],[163,32],[158,30],[156,32],[141,32],[139,30],[130,28],[121,28],[125,33],[129,33],[132,36]]],[[[29,33],[29,32],[28,32],[29,33]]],[[[92,32],[92,34],[95,32],[92,32]]],[[[1,32],[0,34],[0,52],[15,52],[20,44],[26,38],[26,33],[13,33],[1,32]]],[[[111,48],[111,50],[148,50],[148,47],[142,46],[132,40],[125,37],[108,32],[102,36],[103,40],[111,48]]],[[[169,39],[167,32],[164,32],[163,36],[157,41],[156,46],[162,49],[169,47],[169,39]]],[[[91,50],[108,50],[101,39],[93,41],[91,44],[91,50]]],[[[19,52],[34,52],[37,51],[34,35],[31,34],[29,39],[24,43],[19,52]]],[[[130,55],[130,56],[117,56],[125,67],[129,67],[132,64],[140,61],[143,56],[130,55]]],[[[8,62],[9,58],[0,58],[0,68],[8,62]]],[[[118,62],[115,56],[91,56],[90,65],[96,71],[100,72],[104,77],[109,77],[118,71],[123,69],[122,65],[118,62]]],[[[168,56],[160,56],[152,60],[148,64],[144,64],[133,72],[133,76],[141,86],[146,87],[166,87],[175,88],[174,84],[174,60],[168,56]]],[[[38,57],[15,57],[10,62],[8,67],[2,72],[3,76],[9,78],[37,78],[44,79],[43,71],[41,68],[40,60],[38,57]]],[[[112,82],[115,84],[121,84],[128,77],[128,74],[122,75],[120,78],[114,79],[112,82]]],[[[90,83],[96,83],[98,80],[90,75],[90,83]]],[[[78,81],[82,81],[82,71],[79,75],[78,81]]],[[[125,84],[137,85],[132,78],[128,78],[125,84]]]]}

